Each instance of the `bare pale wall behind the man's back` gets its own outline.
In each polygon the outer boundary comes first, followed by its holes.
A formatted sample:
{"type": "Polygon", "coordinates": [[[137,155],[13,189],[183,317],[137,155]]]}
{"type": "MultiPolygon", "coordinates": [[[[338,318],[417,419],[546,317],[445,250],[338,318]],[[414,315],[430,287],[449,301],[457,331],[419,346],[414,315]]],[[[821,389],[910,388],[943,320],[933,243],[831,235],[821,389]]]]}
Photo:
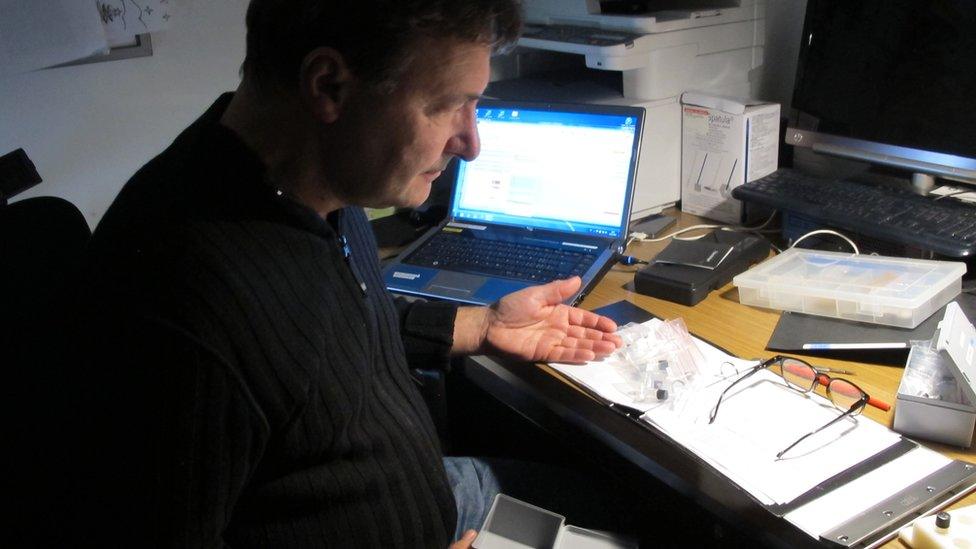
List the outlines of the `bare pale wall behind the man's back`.
{"type": "Polygon", "coordinates": [[[244,59],[247,0],[179,0],[153,55],[0,78],[0,154],[22,147],[54,195],[95,226],[143,164],[223,91],[244,59]]]}

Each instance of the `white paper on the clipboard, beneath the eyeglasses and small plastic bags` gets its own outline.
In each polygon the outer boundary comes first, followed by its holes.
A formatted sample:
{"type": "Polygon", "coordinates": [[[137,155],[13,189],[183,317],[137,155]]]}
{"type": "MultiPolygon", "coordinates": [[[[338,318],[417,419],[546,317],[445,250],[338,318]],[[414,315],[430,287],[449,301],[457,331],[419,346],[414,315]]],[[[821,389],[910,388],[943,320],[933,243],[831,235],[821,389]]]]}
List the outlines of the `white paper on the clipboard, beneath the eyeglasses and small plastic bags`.
{"type": "Polygon", "coordinates": [[[695,344],[705,356],[705,386],[661,403],[628,398],[633,391],[627,389],[612,358],[583,366],[553,367],[612,401],[645,412],[643,420],[765,504],[788,503],[901,439],[869,418],[850,418],[777,459],[779,451],[842,412],[826,398],[799,393],[787,387],[779,375],[761,370],[725,395],[715,423],[709,424],[719,394],[740,377],[736,371],[744,372],[755,362],[729,356],[699,339],[695,344]]]}

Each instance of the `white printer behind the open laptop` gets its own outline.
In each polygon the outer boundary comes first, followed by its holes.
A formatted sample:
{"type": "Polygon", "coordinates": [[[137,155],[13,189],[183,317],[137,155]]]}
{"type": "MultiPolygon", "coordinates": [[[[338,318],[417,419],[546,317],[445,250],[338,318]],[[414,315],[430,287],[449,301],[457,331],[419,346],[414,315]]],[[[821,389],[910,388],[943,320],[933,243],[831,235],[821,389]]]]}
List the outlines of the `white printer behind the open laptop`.
{"type": "Polygon", "coordinates": [[[631,219],[674,205],[681,196],[681,94],[755,95],[765,0],[523,0],[522,6],[524,32],[512,55],[493,61],[487,95],[644,107],[631,219]]]}

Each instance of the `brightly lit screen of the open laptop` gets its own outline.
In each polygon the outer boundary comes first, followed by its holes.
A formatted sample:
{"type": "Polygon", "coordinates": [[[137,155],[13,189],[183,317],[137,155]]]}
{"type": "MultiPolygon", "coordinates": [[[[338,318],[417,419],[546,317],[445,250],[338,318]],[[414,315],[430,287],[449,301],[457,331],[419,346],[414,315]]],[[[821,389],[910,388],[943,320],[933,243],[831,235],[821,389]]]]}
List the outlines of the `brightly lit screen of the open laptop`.
{"type": "Polygon", "coordinates": [[[481,154],[461,162],[454,220],[620,237],[643,109],[483,101],[481,154]]]}

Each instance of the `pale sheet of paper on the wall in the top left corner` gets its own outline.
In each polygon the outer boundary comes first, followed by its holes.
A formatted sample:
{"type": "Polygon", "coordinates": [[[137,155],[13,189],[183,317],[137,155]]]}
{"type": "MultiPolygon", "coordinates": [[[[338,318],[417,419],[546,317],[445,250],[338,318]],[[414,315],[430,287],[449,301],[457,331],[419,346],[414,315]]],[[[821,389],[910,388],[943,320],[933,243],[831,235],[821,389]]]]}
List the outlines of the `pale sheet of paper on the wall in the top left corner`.
{"type": "Polygon", "coordinates": [[[108,51],[91,0],[0,0],[0,74],[19,74],[108,51]]]}

